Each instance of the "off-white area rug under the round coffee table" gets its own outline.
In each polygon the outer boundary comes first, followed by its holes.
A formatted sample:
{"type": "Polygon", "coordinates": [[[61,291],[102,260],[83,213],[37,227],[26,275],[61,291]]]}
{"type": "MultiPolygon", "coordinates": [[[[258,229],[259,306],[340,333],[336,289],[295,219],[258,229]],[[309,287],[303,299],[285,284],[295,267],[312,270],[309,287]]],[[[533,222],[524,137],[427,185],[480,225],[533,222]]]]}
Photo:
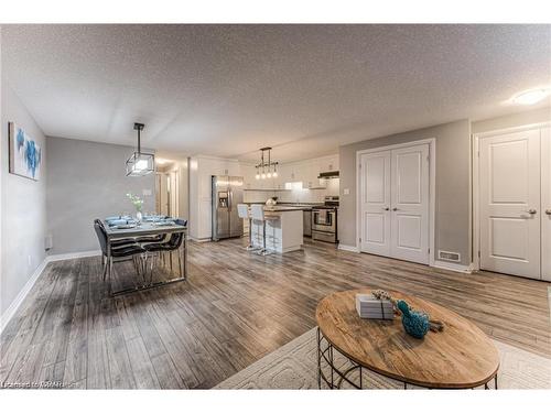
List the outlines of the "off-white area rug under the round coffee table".
{"type": "MultiPolygon", "coordinates": [[[[551,359],[500,341],[494,343],[500,358],[499,389],[551,389],[551,359]]],[[[347,361],[341,356],[336,363],[344,366],[347,361]]],[[[350,377],[357,379],[357,376],[350,377]]],[[[366,389],[403,389],[402,383],[372,372],[364,372],[363,379],[366,389]]],[[[494,383],[490,382],[489,387],[493,388],[494,383]]],[[[343,388],[350,387],[343,383],[343,388]]],[[[317,389],[316,329],[288,343],[215,389],[317,389]]]]}

